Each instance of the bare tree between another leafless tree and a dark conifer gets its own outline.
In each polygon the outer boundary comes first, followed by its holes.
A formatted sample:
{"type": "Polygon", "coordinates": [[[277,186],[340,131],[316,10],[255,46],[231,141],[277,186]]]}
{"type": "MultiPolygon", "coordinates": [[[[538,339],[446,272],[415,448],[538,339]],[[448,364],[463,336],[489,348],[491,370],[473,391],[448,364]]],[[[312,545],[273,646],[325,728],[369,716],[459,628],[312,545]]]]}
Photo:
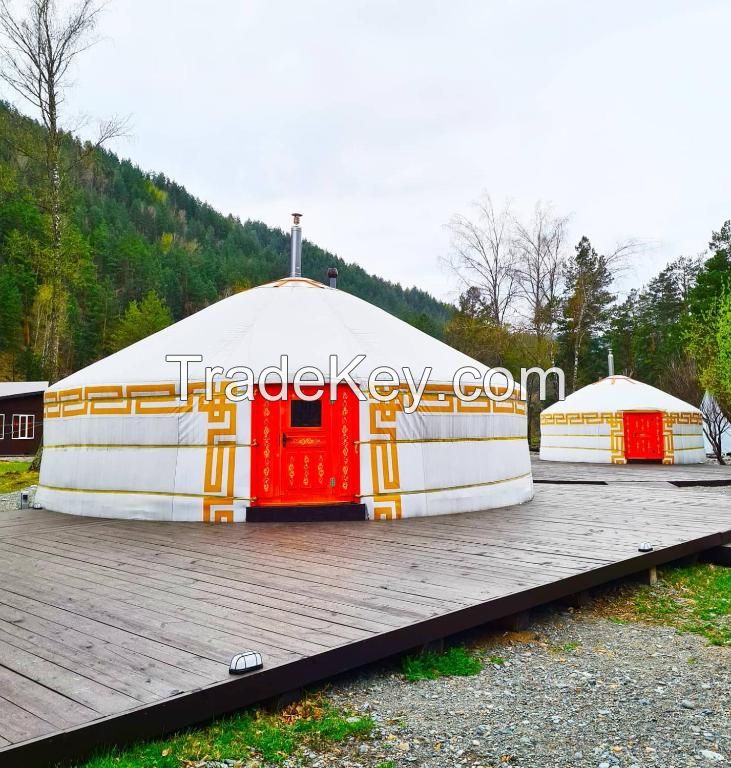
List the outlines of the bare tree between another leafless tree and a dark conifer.
{"type": "Polygon", "coordinates": [[[554,215],[551,207],[542,203],[536,205],[529,223],[514,220],[519,295],[525,304],[528,328],[539,338],[550,337],[556,324],[567,222],[566,217],[554,215]]]}

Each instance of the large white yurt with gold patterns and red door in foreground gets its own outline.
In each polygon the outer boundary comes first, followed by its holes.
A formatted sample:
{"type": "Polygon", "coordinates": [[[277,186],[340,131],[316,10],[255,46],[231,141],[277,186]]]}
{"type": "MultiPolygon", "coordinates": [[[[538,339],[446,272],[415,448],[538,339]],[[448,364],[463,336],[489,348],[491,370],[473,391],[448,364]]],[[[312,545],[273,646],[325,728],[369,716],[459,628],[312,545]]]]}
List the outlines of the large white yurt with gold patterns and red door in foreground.
{"type": "Polygon", "coordinates": [[[205,522],[390,519],[526,501],[525,403],[458,399],[462,366],[487,370],[337,288],[290,277],[243,291],[48,389],[36,501],[79,515],[205,522]],[[189,365],[187,399],[180,363],[165,359],[180,354],[202,356],[189,365]],[[361,391],[379,366],[407,366],[417,381],[432,373],[413,413],[408,380],[391,402],[370,391],[361,400],[347,383],[335,398],[310,401],[290,386],[286,399],[265,399],[262,387],[278,390],[269,367],[281,368],[282,355],[290,381],[303,366],[330,380],[331,356],[342,369],[364,355],[353,371],[361,391]],[[206,366],[251,369],[253,398],[227,397],[230,376],[207,399],[206,366]]]}

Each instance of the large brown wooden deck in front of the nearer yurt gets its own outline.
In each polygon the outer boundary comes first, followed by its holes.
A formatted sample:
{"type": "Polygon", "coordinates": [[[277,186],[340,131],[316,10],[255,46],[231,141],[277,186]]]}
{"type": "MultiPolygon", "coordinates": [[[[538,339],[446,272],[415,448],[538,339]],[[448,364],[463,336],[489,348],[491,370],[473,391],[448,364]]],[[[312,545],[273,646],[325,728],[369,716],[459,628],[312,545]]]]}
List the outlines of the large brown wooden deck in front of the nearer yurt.
{"type": "Polygon", "coordinates": [[[636,483],[378,523],[3,513],[0,764],[174,730],[729,541],[721,494],[636,483]],[[245,649],[265,668],[231,677],[245,649]]]}

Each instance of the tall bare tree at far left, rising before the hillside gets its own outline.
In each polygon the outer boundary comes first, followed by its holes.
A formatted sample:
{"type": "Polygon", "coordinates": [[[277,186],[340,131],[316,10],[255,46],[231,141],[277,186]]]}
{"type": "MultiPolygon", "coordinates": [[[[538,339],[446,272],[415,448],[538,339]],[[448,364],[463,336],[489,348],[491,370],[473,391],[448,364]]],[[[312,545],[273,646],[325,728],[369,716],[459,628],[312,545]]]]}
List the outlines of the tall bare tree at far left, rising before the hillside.
{"type": "MultiPolygon", "coordinates": [[[[59,109],[64,101],[69,67],[94,42],[90,35],[99,12],[100,6],[95,0],[81,0],[66,16],[59,12],[56,0],[28,0],[25,16],[21,17],[11,9],[8,0],[0,0],[0,78],[38,110],[46,129],[43,160],[47,174],[46,207],[51,222],[51,244],[44,270],[50,299],[43,359],[52,381],[59,374],[60,337],[65,313],[62,190],[66,167],[62,160],[59,109]]],[[[100,146],[123,130],[124,121],[103,123],[99,138],[91,147],[100,146]]]]}

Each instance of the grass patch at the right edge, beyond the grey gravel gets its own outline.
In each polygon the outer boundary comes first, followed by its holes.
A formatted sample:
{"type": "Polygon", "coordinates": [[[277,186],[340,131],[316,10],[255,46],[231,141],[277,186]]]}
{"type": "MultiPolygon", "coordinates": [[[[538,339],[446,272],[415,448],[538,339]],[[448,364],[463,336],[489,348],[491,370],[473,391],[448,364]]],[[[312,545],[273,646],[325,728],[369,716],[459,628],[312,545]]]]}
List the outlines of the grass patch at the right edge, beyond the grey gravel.
{"type": "Polygon", "coordinates": [[[599,613],[617,623],[664,624],[731,646],[731,569],[716,565],[666,568],[656,587],[624,588],[600,601],[599,613]]]}

